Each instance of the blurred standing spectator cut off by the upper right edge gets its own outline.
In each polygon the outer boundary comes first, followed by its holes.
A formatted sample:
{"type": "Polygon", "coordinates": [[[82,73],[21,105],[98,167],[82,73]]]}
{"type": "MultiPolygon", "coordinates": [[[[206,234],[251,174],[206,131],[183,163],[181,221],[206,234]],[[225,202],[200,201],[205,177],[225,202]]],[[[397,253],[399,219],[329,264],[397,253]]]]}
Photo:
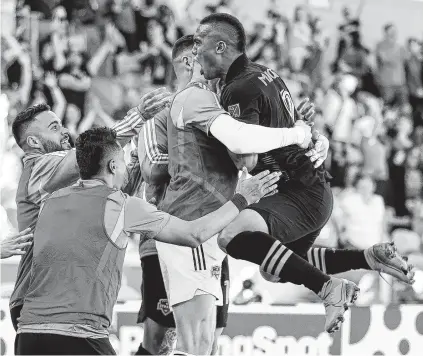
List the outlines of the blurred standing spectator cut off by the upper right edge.
{"type": "Polygon", "coordinates": [[[407,86],[414,127],[423,126],[423,48],[416,38],[408,40],[407,86]]]}

